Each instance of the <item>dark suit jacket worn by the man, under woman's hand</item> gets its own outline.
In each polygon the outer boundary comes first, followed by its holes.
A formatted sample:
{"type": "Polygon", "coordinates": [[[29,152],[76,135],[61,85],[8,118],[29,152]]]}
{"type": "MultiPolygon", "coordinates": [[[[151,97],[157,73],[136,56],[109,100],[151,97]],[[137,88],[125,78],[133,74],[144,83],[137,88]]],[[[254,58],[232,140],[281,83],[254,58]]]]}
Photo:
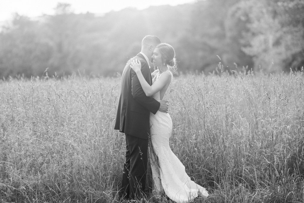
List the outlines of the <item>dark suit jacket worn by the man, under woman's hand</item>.
{"type": "MultiPolygon", "coordinates": [[[[140,53],[133,59],[136,58],[141,62],[143,77],[152,85],[147,61],[140,53]]],[[[148,139],[150,133],[150,112],[156,114],[160,103],[154,98],[146,96],[143,92],[136,73],[130,68],[133,59],[123,69],[114,129],[135,137],[148,139]]]]}

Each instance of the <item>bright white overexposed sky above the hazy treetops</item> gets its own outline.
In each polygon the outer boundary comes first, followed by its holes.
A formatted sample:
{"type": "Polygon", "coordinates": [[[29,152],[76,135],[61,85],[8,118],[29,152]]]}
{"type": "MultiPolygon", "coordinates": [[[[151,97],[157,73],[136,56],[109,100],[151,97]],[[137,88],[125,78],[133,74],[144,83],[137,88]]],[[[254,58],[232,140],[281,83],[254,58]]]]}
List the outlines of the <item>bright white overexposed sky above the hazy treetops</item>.
{"type": "Polygon", "coordinates": [[[10,20],[14,13],[28,17],[54,14],[57,3],[69,3],[75,13],[106,13],[126,7],[145,9],[151,5],[179,5],[197,0],[0,0],[0,21],[10,20]]]}

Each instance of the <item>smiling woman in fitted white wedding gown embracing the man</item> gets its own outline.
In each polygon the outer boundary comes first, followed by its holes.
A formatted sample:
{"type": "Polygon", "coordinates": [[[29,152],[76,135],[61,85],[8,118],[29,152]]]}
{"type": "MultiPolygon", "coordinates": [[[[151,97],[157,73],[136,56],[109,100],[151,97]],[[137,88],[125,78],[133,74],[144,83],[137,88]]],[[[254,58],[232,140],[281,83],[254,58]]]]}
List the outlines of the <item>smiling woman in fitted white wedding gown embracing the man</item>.
{"type": "MultiPolygon", "coordinates": [[[[152,75],[152,86],[141,73],[141,63],[133,60],[131,68],[136,72],[143,91],[147,96],[156,100],[166,98],[166,90],[173,79],[171,70],[176,68],[175,51],[170,44],[161,43],[154,49],[153,63],[157,66],[152,75]]],[[[195,184],[185,172],[185,166],[175,156],[169,146],[172,131],[172,120],[168,113],[157,111],[150,114],[151,142],[156,157],[150,156],[153,193],[160,197],[166,194],[171,200],[184,203],[192,202],[196,197],[207,198],[208,192],[204,187],[195,184]]]]}

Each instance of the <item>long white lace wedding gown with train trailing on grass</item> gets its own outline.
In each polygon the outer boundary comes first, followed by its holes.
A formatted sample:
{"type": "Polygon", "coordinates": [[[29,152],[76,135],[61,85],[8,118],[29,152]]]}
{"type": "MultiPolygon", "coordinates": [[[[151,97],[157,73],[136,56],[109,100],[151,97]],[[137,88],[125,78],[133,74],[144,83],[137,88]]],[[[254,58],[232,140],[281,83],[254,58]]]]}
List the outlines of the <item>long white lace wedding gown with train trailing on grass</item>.
{"type": "MultiPolygon", "coordinates": [[[[159,77],[160,74],[158,73],[153,78],[153,82],[159,77]]],[[[170,85],[163,99],[167,99],[169,90],[170,85]]],[[[153,97],[160,100],[160,92],[157,92],[153,97]]],[[[177,203],[192,202],[198,196],[207,198],[208,192],[206,189],[190,179],[185,172],[185,166],[170,149],[169,138],[172,131],[170,115],[160,111],[157,111],[156,114],[150,113],[150,126],[151,143],[154,150],[150,153],[154,182],[153,194],[160,196],[165,193],[177,203]]]]}

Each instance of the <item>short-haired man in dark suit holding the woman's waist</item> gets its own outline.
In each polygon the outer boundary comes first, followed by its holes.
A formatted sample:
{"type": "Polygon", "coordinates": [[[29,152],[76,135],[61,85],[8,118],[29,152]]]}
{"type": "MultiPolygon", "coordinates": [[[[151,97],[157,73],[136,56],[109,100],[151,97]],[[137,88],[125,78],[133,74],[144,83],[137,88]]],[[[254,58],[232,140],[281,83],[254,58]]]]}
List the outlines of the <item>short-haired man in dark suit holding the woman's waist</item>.
{"type": "Polygon", "coordinates": [[[141,62],[141,72],[152,85],[149,61],[154,48],[161,43],[156,36],[147,35],[141,42],[141,52],[128,61],[121,78],[119,103],[114,129],[126,135],[126,162],[123,167],[122,196],[126,199],[140,197],[146,185],[148,136],[150,112],[168,112],[168,100],[158,102],[146,96],[136,73],[130,68],[131,61],[141,62]]]}

